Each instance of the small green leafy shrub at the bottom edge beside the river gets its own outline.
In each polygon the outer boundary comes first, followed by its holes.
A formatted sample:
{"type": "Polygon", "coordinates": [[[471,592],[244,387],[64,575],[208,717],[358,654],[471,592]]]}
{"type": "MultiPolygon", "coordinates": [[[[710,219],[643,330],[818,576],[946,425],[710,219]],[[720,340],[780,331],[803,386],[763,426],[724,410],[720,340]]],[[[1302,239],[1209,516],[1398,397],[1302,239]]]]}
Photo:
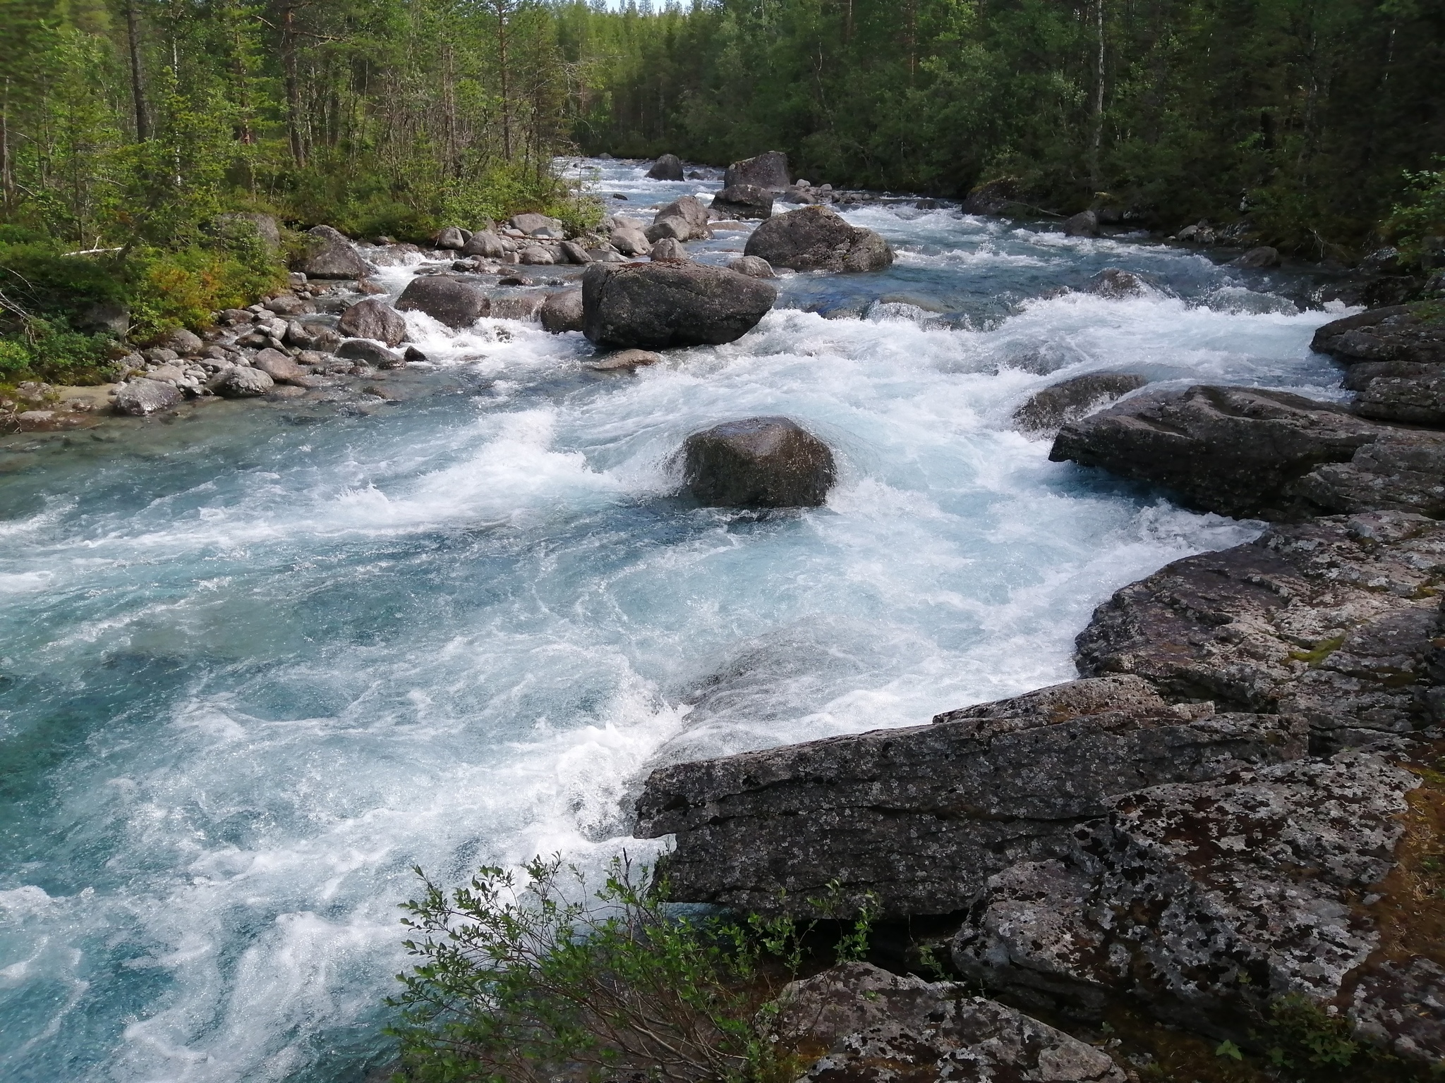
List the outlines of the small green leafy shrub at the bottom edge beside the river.
{"type": "Polygon", "coordinates": [[[801,962],[792,921],[681,913],[665,882],[626,861],[591,898],[559,858],[535,859],[522,882],[500,868],[451,892],[422,879],[403,907],[420,962],[392,1001],[406,1079],[540,1083],[566,1066],[590,1079],[776,1074],[759,1006],[766,970],[801,962]]]}

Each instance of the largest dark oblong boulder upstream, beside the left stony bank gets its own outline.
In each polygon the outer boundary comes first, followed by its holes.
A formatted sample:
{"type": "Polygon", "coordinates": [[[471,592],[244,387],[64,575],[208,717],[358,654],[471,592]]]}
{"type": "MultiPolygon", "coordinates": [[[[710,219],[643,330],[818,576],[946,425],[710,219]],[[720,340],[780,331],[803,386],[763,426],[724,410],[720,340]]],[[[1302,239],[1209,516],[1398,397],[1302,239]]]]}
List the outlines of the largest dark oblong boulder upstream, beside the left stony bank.
{"type": "Polygon", "coordinates": [[[582,273],[582,334],[600,347],[665,349],[741,338],[777,287],[698,263],[594,263],[582,273]]]}

